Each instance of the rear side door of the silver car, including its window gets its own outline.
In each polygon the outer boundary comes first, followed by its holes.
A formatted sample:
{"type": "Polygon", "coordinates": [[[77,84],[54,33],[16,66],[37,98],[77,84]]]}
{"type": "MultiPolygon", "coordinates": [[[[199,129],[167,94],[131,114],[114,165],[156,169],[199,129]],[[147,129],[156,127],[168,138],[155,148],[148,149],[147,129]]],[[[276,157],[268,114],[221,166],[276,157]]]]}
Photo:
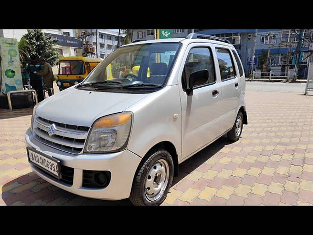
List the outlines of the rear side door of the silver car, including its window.
{"type": "Polygon", "coordinates": [[[220,132],[224,133],[234,125],[239,106],[239,74],[234,63],[232,52],[228,47],[216,46],[214,48],[218,60],[217,74],[221,78],[222,101],[220,132]]]}

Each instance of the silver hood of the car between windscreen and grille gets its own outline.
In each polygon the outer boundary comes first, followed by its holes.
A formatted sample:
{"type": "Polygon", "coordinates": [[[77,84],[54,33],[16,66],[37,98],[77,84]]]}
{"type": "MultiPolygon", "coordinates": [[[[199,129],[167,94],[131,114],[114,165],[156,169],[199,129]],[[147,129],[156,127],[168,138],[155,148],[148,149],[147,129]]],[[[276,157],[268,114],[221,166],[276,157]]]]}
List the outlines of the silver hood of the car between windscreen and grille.
{"type": "Polygon", "coordinates": [[[36,115],[55,122],[91,126],[97,118],[123,112],[146,95],[94,92],[70,87],[40,102],[36,115]]]}

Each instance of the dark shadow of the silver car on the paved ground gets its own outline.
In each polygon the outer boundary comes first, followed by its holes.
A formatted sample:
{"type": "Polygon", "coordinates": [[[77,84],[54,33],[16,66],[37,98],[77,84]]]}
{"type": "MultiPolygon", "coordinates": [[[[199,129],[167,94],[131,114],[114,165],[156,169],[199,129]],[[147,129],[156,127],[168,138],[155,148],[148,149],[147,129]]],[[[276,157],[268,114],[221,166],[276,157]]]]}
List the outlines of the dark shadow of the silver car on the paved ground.
{"type": "MultiPolygon", "coordinates": [[[[172,187],[174,187],[180,180],[186,177],[193,170],[198,168],[205,161],[210,159],[214,154],[220,151],[225,145],[232,143],[225,136],[216,140],[209,146],[202,149],[200,152],[190,157],[183,163],[179,164],[179,174],[174,177],[172,187]]],[[[104,201],[99,199],[91,199],[86,197],[77,196],[73,193],[67,192],[61,188],[57,188],[51,184],[45,186],[45,188],[37,191],[38,189],[30,188],[25,191],[13,192],[10,188],[21,187],[22,185],[29,184],[33,181],[37,181],[39,185],[48,184],[45,180],[41,179],[34,172],[25,174],[16,178],[2,187],[1,198],[6,205],[14,205],[14,202],[20,201],[20,205],[89,205],[89,206],[132,206],[133,204],[129,199],[119,200],[119,201],[104,201]],[[7,190],[7,191],[6,191],[7,190]],[[33,194],[35,191],[35,194],[33,194]],[[15,192],[15,193],[14,193],[15,192]],[[20,194],[21,193],[21,194],[20,194]],[[22,194],[23,193],[23,194],[22,194]],[[20,194],[20,195],[19,195],[20,194]],[[36,195],[37,194],[37,195],[36,195]],[[38,204],[38,200],[41,200],[38,204]],[[37,204],[33,204],[37,201],[37,204]]],[[[19,204],[17,204],[19,205],[19,204]]]]}

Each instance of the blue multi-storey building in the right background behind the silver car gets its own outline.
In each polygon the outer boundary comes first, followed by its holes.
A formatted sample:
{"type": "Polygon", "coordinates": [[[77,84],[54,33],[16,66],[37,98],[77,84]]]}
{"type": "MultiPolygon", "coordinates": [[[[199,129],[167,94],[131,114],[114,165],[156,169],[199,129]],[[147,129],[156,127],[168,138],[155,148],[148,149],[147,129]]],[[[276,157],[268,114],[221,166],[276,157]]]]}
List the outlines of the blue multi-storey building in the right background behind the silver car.
{"type": "MultiPolygon", "coordinates": [[[[213,35],[230,41],[240,55],[246,74],[249,74],[254,47],[255,29],[204,29],[197,33],[213,35]]],[[[262,65],[258,63],[258,57],[262,55],[262,51],[267,53],[269,49],[268,71],[290,71],[292,76],[295,62],[293,55],[298,42],[296,33],[299,33],[299,30],[294,32],[291,29],[258,29],[254,69],[262,69],[262,65]]],[[[305,30],[305,42],[301,49],[301,51],[303,51],[300,55],[302,62],[299,66],[298,78],[307,77],[309,64],[309,58],[307,58],[309,55],[308,47],[309,41],[312,39],[312,34],[312,29],[305,30]]]]}

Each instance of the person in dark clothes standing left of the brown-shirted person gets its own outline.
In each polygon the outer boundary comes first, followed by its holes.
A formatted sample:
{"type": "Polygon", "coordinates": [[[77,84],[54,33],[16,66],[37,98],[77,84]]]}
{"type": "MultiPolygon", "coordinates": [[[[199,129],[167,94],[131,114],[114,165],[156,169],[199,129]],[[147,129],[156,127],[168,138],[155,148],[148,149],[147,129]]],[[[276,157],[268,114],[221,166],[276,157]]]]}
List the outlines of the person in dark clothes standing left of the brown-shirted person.
{"type": "Polygon", "coordinates": [[[34,90],[36,90],[38,102],[40,102],[45,99],[45,92],[43,76],[36,74],[37,72],[41,72],[43,70],[43,67],[38,64],[37,59],[38,57],[35,55],[32,55],[30,57],[31,62],[26,67],[26,71],[29,73],[30,76],[30,85],[34,90]]]}

